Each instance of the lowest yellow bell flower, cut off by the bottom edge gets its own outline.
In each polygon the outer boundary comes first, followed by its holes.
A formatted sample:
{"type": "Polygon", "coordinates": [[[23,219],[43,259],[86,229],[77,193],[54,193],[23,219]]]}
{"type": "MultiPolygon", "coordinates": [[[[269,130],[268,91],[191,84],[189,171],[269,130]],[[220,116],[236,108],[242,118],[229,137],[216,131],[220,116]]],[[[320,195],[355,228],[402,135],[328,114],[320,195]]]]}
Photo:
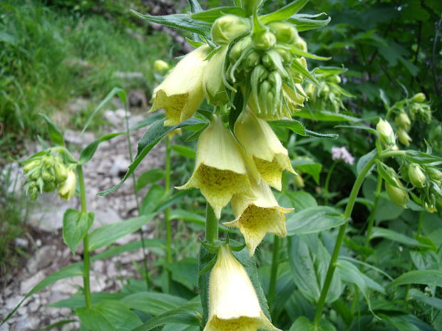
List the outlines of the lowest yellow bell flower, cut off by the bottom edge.
{"type": "Polygon", "coordinates": [[[264,315],[245,268],[222,245],[210,273],[209,320],[204,331],[279,331],[264,315]]]}

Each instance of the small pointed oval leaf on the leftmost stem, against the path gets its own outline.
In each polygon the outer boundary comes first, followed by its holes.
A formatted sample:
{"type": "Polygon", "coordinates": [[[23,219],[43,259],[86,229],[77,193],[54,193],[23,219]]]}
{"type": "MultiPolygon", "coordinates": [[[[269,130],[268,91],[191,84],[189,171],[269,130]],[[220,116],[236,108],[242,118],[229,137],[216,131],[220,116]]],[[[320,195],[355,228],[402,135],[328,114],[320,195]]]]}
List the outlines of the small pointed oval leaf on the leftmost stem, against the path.
{"type": "Polygon", "coordinates": [[[93,213],[83,214],[76,209],[67,209],[63,215],[63,241],[75,254],[78,243],[83,240],[93,224],[93,213]]]}

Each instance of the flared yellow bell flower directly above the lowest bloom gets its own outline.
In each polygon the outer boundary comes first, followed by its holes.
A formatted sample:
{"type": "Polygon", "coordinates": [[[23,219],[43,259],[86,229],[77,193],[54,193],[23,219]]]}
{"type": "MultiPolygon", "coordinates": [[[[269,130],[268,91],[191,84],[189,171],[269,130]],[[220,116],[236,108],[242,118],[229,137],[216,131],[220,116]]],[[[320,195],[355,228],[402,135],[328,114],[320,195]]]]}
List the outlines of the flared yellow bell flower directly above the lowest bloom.
{"type": "Polygon", "coordinates": [[[272,190],[264,182],[254,185],[253,191],[256,199],[241,194],[232,197],[233,214],[237,219],[223,223],[225,226],[240,228],[249,248],[249,256],[255,253],[266,233],[287,236],[284,214],[293,211],[279,206],[272,190]]]}

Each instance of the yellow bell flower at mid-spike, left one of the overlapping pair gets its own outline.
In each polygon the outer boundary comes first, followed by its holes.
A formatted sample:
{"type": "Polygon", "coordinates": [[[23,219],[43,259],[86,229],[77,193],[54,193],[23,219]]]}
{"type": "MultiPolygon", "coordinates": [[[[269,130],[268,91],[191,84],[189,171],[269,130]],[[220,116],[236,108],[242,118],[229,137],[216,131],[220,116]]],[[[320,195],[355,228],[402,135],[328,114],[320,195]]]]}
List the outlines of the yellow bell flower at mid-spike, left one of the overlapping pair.
{"type": "Polygon", "coordinates": [[[253,195],[240,148],[221,117],[213,115],[210,125],[200,135],[192,177],[177,189],[200,189],[220,219],[221,209],[233,194],[253,195]]]}

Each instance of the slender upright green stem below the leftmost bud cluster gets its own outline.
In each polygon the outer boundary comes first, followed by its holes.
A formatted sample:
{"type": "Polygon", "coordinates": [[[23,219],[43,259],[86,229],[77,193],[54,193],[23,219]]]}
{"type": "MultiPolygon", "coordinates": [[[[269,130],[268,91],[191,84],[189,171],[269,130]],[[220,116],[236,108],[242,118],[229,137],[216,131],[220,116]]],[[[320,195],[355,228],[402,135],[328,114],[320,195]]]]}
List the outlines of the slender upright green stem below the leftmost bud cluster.
{"type": "MultiPolygon", "coordinates": [[[[83,175],[83,167],[81,164],[77,166],[78,172],[78,182],[80,184],[80,201],[81,201],[81,214],[87,214],[86,208],[86,189],[84,185],[84,175],[83,175]]],[[[86,233],[86,236],[83,238],[83,288],[84,288],[84,300],[86,303],[86,308],[92,307],[92,299],[91,299],[91,281],[89,277],[90,273],[90,264],[89,260],[89,235],[86,233]]]]}

